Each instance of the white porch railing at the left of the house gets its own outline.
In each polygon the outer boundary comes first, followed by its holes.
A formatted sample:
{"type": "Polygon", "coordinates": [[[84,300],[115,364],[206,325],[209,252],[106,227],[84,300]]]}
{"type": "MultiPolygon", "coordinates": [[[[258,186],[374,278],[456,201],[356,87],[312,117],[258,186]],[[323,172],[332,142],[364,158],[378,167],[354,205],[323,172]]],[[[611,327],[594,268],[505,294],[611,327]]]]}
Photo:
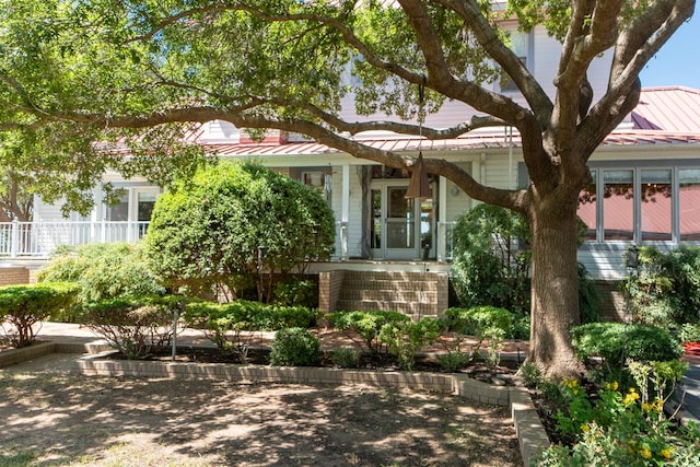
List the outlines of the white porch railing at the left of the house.
{"type": "Polygon", "coordinates": [[[0,257],[46,257],[61,245],[136,242],[149,222],[0,222],[0,257]]]}

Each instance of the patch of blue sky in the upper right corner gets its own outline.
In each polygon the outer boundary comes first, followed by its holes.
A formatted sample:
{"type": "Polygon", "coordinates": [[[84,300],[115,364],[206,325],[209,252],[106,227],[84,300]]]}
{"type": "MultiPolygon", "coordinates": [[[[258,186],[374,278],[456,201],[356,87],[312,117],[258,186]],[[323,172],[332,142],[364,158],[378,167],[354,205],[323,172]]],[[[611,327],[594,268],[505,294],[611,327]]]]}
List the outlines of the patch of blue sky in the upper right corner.
{"type": "Polygon", "coordinates": [[[684,85],[700,90],[700,2],[640,74],[642,87],[684,85]]]}

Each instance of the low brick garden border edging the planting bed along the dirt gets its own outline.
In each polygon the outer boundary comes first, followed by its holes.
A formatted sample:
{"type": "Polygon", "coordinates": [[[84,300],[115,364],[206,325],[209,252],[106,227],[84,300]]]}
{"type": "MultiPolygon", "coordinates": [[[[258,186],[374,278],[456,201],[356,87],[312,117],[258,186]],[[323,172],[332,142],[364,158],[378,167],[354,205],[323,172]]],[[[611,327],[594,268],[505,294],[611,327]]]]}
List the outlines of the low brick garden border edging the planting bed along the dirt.
{"type": "Polygon", "coordinates": [[[494,386],[460,374],[343,370],[302,366],[236,365],[231,363],[107,360],[105,343],[42,342],[0,352],[0,367],[49,353],[89,353],[77,359],[74,371],[95,376],[145,376],[173,380],[228,380],[244,383],[366,384],[454,394],[467,400],[510,407],[525,466],[549,445],[529,393],[518,386],[494,386]]]}

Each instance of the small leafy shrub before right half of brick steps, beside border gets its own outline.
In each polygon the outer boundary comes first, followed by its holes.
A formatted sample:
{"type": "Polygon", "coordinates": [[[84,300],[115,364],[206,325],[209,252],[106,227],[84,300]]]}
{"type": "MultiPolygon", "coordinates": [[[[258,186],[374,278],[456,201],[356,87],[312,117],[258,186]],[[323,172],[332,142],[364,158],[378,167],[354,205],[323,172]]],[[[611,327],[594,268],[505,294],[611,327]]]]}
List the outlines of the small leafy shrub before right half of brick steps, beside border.
{"type": "Polygon", "coordinates": [[[399,320],[383,325],[378,340],[386,343],[401,370],[411,371],[416,364],[418,350],[434,342],[440,336],[440,322],[435,318],[423,317],[417,322],[399,320]]]}

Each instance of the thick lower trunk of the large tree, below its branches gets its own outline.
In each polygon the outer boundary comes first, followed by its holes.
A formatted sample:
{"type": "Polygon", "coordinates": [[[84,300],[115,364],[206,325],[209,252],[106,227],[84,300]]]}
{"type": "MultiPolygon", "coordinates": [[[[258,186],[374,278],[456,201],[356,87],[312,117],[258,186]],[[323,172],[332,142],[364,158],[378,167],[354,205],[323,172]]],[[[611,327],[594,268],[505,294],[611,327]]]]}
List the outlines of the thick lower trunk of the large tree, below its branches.
{"type": "Polygon", "coordinates": [[[537,200],[530,211],[533,229],[532,330],[528,361],[545,376],[580,376],[583,364],[571,345],[572,326],[580,323],[576,261],[576,196],[537,200]]]}

